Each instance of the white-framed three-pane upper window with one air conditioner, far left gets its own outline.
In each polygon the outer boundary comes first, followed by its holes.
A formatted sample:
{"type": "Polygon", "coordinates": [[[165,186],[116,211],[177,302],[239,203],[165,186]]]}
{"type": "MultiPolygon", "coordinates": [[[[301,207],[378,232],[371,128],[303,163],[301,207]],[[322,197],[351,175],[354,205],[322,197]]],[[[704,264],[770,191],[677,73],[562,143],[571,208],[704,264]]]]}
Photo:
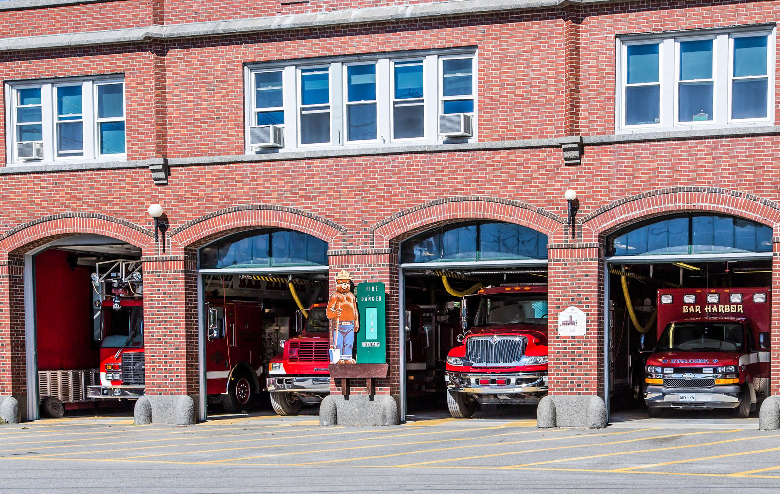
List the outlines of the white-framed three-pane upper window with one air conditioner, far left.
{"type": "Polygon", "coordinates": [[[124,159],[122,78],[9,83],[9,163],[124,159]]]}

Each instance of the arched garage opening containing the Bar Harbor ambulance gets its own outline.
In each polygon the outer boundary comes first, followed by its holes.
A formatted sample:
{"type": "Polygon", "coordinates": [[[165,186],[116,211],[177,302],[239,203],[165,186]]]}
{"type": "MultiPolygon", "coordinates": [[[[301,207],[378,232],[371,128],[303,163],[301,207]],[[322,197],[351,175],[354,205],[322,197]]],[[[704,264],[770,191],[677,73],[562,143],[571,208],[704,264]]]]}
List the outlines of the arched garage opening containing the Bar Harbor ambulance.
{"type": "Polygon", "coordinates": [[[607,236],[613,421],[745,417],[768,396],[771,234],[739,217],[679,213],[607,236]]]}

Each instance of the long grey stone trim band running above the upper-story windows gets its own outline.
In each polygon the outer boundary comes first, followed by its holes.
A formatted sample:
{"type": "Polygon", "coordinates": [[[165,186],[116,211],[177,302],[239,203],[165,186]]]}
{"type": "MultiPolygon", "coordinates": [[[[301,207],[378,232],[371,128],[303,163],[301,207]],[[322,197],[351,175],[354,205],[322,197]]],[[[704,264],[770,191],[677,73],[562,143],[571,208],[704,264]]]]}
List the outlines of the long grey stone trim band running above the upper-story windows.
{"type": "MultiPolygon", "coordinates": [[[[100,1],[100,0],[97,0],[100,1]]],[[[93,44],[126,43],[142,40],[171,40],[186,37],[221,36],[225,34],[261,33],[278,30],[312,29],[364,23],[393,22],[410,19],[441,18],[446,16],[473,16],[492,12],[512,12],[528,9],[555,9],[568,5],[638,2],[640,0],[456,0],[415,5],[393,5],[348,9],[333,12],[293,14],[289,16],[232,19],[204,23],[182,23],[169,26],[147,26],[121,30],[97,31],[83,36],[80,33],[16,37],[4,40],[0,51],[34,50],[59,46],[87,46],[93,44]]],[[[45,0],[12,0],[12,2],[41,2],[45,0]]],[[[70,0],[51,0],[52,5],[73,5],[70,0]]],[[[2,5],[2,2],[0,2],[2,5]]],[[[23,5],[23,4],[20,4],[23,5]]],[[[7,6],[7,5],[6,5],[7,6]]],[[[35,8],[35,7],[19,7],[35,8]]]]}

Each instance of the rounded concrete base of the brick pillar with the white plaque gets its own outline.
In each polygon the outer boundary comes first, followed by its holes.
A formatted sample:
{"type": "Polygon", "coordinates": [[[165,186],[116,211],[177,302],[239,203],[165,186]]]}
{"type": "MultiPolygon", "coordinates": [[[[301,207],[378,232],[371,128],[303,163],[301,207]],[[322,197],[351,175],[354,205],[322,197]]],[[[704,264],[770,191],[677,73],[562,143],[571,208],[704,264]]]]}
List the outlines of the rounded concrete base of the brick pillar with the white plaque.
{"type": "Polygon", "coordinates": [[[548,395],[537,407],[537,427],[541,429],[606,426],[607,407],[601,397],[594,395],[548,395]]]}

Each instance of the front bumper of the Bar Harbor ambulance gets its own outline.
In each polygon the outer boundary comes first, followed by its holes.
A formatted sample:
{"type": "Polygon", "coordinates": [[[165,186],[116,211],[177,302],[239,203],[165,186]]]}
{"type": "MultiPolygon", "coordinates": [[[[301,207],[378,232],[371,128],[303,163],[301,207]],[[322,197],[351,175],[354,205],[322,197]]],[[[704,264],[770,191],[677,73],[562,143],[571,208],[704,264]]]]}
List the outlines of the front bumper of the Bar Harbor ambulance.
{"type": "Polygon", "coordinates": [[[712,386],[704,390],[647,386],[644,395],[644,402],[650,408],[698,410],[737,408],[742,399],[742,390],[739,386],[712,386]]]}

